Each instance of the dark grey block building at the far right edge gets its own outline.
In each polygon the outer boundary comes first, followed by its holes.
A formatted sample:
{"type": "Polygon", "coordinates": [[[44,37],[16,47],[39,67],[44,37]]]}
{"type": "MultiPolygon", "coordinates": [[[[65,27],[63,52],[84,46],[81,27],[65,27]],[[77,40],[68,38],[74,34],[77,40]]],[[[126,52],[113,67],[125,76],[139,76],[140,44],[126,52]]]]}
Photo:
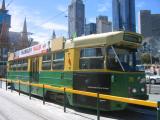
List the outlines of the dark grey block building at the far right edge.
{"type": "Polygon", "coordinates": [[[145,37],[160,36],[160,14],[151,14],[150,10],[141,10],[138,26],[139,33],[145,37]]]}

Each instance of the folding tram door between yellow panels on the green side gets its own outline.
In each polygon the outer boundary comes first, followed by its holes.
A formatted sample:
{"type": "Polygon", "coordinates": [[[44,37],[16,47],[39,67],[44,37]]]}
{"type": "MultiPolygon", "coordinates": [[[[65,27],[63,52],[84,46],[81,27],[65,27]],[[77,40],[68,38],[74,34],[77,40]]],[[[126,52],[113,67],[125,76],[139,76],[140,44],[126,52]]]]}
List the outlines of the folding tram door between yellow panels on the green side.
{"type": "Polygon", "coordinates": [[[39,82],[39,59],[38,57],[31,59],[31,82],[39,82]]]}

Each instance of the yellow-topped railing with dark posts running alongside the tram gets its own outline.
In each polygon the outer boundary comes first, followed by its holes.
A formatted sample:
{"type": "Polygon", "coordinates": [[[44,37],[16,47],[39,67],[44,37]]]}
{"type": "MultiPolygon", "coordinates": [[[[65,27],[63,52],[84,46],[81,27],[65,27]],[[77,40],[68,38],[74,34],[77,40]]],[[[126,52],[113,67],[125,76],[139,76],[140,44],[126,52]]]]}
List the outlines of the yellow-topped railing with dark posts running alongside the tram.
{"type": "MultiPolygon", "coordinates": [[[[56,90],[56,91],[63,92],[64,93],[64,112],[66,112],[66,93],[72,93],[72,94],[97,98],[97,120],[100,120],[100,108],[99,108],[100,99],[157,108],[157,120],[160,120],[160,101],[153,102],[153,101],[138,100],[138,99],[133,99],[133,98],[125,98],[125,97],[118,97],[118,96],[112,96],[112,95],[106,95],[106,94],[99,94],[99,93],[93,93],[93,92],[73,90],[71,88],[65,88],[65,87],[55,87],[55,86],[46,85],[46,84],[35,84],[35,83],[30,83],[30,82],[23,82],[23,81],[20,81],[20,80],[15,81],[15,80],[9,80],[9,79],[0,79],[0,81],[6,82],[6,90],[7,90],[7,84],[8,83],[18,84],[19,85],[19,95],[20,95],[20,92],[21,92],[20,86],[21,85],[27,85],[29,87],[29,98],[30,99],[31,99],[31,86],[42,88],[43,89],[43,104],[45,104],[45,89],[50,89],[50,90],[56,90]]],[[[12,87],[11,87],[11,91],[12,91],[12,87]]]]}

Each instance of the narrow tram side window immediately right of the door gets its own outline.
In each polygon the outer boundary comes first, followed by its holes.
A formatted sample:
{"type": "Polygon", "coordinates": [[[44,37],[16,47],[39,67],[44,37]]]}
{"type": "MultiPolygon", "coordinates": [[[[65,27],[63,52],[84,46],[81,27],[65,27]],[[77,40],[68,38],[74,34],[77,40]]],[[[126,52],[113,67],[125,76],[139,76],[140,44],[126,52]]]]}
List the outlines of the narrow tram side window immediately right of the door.
{"type": "Polygon", "coordinates": [[[42,70],[51,70],[51,58],[51,54],[43,55],[42,70]]]}

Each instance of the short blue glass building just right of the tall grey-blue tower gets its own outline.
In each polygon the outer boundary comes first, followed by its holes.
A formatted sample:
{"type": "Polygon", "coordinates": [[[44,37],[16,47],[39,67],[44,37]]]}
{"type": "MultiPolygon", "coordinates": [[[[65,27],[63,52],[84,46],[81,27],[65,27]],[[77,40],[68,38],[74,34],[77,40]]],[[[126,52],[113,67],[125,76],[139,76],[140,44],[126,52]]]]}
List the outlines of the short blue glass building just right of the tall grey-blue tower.
{"type": "Polygon", "coordinates": [[[85,35],[96,34],[96,23],[86,24],[85,35]]]}

